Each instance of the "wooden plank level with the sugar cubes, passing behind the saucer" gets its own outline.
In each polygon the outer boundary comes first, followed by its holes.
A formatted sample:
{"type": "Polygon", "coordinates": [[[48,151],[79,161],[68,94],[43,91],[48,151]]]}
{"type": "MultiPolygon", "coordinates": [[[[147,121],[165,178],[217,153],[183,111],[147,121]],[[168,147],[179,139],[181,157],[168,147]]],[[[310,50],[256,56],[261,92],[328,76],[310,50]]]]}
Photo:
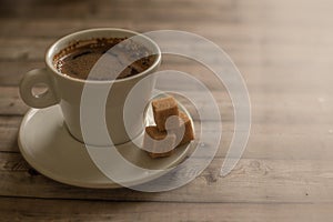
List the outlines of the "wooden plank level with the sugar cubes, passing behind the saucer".
{"type": "MultiPolygon", "coordinates": [[[[19,152],[17,138],[21,117],[0,117],[0,152],[19,152]]],[[[209,130],[214,131],[216,123],[210,122],[209,130]]],[[[244,159],[270,160],[332,160],[333,131],[331,125],[307,124],[253,124],[244,159]]],[[[226,154],[233,137],[233,125],[223,124],[222,140],[215,157],[226,154]]],[[[210,148],[213,144],[204,144],[210,148]]]]}

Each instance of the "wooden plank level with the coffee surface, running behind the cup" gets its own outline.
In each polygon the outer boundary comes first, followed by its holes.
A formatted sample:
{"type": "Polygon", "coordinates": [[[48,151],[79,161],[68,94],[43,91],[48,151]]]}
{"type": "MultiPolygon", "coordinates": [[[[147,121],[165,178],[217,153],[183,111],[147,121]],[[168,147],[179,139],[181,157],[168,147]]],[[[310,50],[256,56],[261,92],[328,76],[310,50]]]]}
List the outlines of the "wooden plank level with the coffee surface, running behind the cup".
{"type": "MultiPolygon", "coordinates": [[[[272,33],[273,34],[273,33],[272,33]]],[[[330,36],[331,37],[331,36],[330,36]]],[[[209,38],[209,37],[206,37],[209,38]]],[[[0,38],[0,46],[2,48],[0,52],[1,60],[31,60],[39,61],[43,60],[44,52],[49,46],[51,46],[59,38],[57,37],[39,37],[39,38],[0,38]]],[[[179,39],[165,39],[163,43],[170,46],[180,44],[179,39]]],[[[315,47],[321,52],[320,61],[330,61],[325,56],[332,54],[327,47],[332,46],[331,40],[325,40],[324,42],[317,43],[311,39],[304,40],[303,44],[294,44],[294,38],[289,39],[289,41],[281,41],[276,44],[262,44],[261,39],[249,39],[248,41],[236,41],[232,39],[232,36],[228,41],[225,39],[212,38],[212,41],[223,48],[231,58],[239,59],[240,61],[255,62],[255,64],[263,64],[263,62],[292,62],[301,63],[304,61],[310,61],[313,59],[313,47],[315,47]],[[305,44],[305,46],[304,46],[305,44]],[[264,51],[264,52],[263,52],[264,51]],[[251,53],[249,53],[251,52],[251,53]],[[274,52],[274,53],[269,53],[274,52]],[[281,56],[284,57],[281,57],[281,56]],[[295,57],[296,56],[296,57],[295,57]],[[286,60],[286,58],[287,60],[286,60]],[[242,60],[241,60],[242,59],[242,60]]],[[[186,42],[189,46],[195,44],[198,42],[186,42]]],[[[204,53],[204,48],[200,49],[200,53],[204,53]]],[[[199,52],[198,52],[199,53],[199,52]]],[[[212,60],[214,61],[212,54],[212,60]]]]}

